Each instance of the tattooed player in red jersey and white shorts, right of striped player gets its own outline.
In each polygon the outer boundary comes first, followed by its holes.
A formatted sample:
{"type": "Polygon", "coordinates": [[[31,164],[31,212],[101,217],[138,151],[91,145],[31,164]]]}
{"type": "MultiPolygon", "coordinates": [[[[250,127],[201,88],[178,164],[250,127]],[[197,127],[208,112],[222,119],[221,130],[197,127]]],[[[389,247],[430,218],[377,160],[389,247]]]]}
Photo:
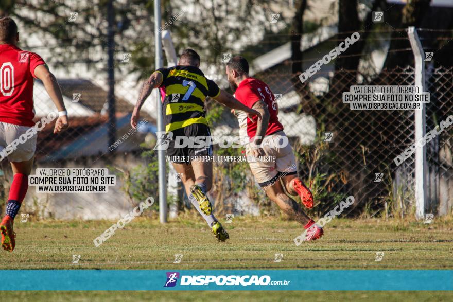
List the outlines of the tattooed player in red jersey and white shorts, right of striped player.
{"type": "Polygon", "coordinates": [[[248,137],[250,141],[246,145],[250,169],[267,196],[286,214],[304,225],[307,230],[305,240],[316,240],[323,235],[322,228],[284,190],[292,196],[299,195],[307,208],[313,207],[313,196],[298,177],[294,153],[278,121],[275,97],[266,83],[248,74],[249,64],[243,57],[236,56],[226,64],[226,76],[236,99],[263,116],[261,122],[256,119],[251,121],[245,113],[234,111],[239,121],[240,136],[248,137]]]}

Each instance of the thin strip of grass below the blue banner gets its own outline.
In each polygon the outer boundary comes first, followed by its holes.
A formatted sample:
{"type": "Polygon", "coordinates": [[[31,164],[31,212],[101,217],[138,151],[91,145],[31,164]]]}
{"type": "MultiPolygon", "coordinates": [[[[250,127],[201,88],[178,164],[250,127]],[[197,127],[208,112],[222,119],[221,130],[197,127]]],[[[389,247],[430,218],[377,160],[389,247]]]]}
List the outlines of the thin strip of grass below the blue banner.
{"type": "Polygon", "coordinates": [[[452,292],[296,292],[296,291],[191,291],[191,292],[8,292],[8,301],[451,301],[452,292]]]}

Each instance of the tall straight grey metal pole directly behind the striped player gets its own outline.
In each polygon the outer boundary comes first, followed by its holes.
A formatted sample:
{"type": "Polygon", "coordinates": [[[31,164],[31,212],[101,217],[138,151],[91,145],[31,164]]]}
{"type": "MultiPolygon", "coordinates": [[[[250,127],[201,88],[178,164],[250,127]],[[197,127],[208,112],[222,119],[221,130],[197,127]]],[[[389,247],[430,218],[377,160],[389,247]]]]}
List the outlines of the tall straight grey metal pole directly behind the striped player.
{"type": "MultiPolygon", "coordinates": [[[[154,0],[154,47],[155,47],[155,69],[163,67],[162,59],[162,41],[161,41],[161,0],[154,0]]],[[[162,118],[162,104],[160,91],[158,92],[157,100],[157,121],[158,131],[164,131],[164,121],[162,118]]],[[[159,218],[161,223],[167,222],[167,183],[166,183],[166,166],[165,166],[165,150],[159,150],[159,218]]]]}

